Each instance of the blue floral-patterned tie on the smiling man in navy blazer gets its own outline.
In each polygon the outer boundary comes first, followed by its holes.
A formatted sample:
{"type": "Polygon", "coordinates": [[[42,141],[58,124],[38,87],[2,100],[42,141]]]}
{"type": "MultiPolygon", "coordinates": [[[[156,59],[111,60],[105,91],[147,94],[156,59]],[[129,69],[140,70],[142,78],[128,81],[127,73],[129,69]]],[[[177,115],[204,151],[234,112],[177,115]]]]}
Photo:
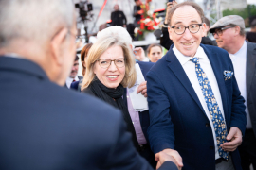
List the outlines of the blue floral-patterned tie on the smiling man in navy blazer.
{"type": "Polygon", "coordinates": [[[219,105],[215,99],[215,96],[212,92],[210,81],[208,80],[208,77],[206,76],[205,72],[200,66],[199,59],[193,58],[191,59],[193,63],[195,63],[195,73],[199,82],[199,85],[201,87],[202,93],[205,97],[205,101],[208,107],[208,110],[210,112],[210,118],[213,123],[214,131],[216,134],[216,141],[218,145],[218,151],[221,158],[224,158],[225,160],[229,159],[229,152],[224,151],[220,145],[227,142],[227,129],[226,125],[222,116],[222,113],[219,109],[219,105]]]}

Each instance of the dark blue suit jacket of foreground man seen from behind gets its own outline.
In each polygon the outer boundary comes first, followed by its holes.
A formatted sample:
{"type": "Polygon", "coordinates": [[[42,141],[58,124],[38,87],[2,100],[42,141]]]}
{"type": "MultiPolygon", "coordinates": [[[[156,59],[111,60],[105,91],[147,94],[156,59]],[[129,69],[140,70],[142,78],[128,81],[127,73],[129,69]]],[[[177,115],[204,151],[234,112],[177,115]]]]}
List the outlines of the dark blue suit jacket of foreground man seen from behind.
{"type": "Polygon", "coordinates": [[[0,56],[0,73],[0,169],[152,169],[119,110],[50,82],[27,59],[0,56]]]}

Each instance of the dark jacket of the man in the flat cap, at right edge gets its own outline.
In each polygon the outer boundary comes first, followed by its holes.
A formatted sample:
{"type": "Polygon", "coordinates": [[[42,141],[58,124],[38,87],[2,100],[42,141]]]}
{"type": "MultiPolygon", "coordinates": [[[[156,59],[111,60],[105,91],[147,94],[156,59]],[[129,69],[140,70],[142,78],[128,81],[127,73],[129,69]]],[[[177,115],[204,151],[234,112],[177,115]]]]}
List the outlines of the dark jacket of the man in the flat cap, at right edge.
{"type": "Polygon", "coordinates": [[[256,136],[256,43],[247,42],[247,108],[256,136]]]}

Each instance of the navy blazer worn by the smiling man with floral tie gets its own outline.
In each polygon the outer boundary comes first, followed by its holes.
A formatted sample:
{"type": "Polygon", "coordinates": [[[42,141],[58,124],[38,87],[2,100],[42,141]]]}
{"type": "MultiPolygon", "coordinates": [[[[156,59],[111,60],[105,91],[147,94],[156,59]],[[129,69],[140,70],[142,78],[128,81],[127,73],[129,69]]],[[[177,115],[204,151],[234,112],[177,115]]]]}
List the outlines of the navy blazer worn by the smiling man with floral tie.
{"type": "MultiPolygon", "coordinates": [[[[201,44],[207,54],[222,97],[228,131],[238,127],[245,134],[246,112],[234,76],[225,81],[223,72],[234,71],[227,51],[201,44]]],[[[173,52],[173,47],[147,74],[150,127],[148,135],[155,153],[172,148],[179,152],[184,170],[215,170],[215,149],[210,121],[192,84],[173,52]],[[159,140],[161,139],[161,140],[159,140]]],[[[236,149],[230,153],[236,170],[241,161],[236,149]]]]}

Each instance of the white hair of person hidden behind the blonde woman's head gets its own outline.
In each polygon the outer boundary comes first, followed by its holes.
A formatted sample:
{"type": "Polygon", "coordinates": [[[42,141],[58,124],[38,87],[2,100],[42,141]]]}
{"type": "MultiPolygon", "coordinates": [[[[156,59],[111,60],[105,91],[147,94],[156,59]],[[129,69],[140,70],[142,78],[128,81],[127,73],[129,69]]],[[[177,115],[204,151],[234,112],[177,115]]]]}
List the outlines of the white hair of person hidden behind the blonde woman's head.
{"type": "Polygon", "coordinates": [[[121,27],[121,26],[110,26],[104,28],[97,34],[97,39],[101,39],[104,36],[118,36],[119,39],[122,39],[124,42],[128,43],[129,45],[133,45],[132,38],[128,31],[121,27]]]}

